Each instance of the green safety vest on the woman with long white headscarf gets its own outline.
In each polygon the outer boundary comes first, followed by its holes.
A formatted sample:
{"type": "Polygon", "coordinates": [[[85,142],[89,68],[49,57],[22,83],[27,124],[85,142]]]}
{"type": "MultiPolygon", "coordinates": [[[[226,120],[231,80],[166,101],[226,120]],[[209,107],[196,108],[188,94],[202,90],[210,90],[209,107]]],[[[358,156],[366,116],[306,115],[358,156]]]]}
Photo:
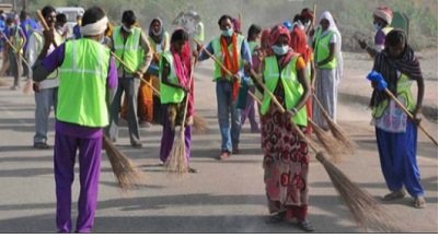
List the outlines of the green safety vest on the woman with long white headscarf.
{"type": "MultiPolygon", "coordinates": [[[[322,29],[319,28],[315,33],[315,46],[314,46],[314,52],[316,53],[315,57],[315,62],[321,62],[324,59],[326,59],[330,56],[330,41],[332,36],[334,35],[334,32],[331,32],[330,34],[326,34],[322,36],[322,29]]],[[[314,55],[315,56],[315,55],[314,55]]],[[[334,58],[330,62],[327,62],[324,66],[317,67],[319,69],[325,69],[325,70],[332,70],[337,67],[337,56],[334,52],[334,58]]]]}

